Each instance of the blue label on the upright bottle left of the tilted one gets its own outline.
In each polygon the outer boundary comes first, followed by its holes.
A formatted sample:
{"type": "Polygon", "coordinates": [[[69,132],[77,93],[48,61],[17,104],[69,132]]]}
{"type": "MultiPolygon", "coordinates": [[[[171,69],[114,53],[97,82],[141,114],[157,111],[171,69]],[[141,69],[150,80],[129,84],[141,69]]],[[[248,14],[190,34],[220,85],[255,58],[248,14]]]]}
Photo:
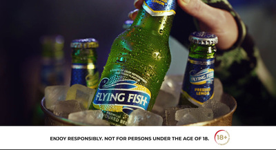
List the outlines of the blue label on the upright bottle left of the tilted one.
{"type": "Polygon", "coordinates": [[[81,84],[89,88],[97,88],[99,72],[93,63],[72,64],[71,85],[81,84]]]}

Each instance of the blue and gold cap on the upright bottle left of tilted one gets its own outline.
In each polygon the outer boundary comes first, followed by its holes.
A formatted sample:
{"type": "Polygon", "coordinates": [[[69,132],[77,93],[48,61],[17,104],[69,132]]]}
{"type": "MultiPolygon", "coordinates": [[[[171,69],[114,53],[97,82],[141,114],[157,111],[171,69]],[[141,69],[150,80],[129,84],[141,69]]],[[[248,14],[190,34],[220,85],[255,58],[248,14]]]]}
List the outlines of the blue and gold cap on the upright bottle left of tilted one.
{"type": "Polygon", "coordinates": [[[70,44],[71,48],[97,48],[99,43],[96,39],[74,39],[70,44]]]}

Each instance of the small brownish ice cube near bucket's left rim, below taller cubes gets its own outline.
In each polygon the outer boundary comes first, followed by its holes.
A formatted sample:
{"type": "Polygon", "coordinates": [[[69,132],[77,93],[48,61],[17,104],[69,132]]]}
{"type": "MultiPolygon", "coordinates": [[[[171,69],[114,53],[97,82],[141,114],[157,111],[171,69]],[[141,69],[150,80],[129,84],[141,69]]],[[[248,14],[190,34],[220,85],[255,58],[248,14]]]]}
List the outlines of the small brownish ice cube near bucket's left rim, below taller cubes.
{"type": "Polygon", "coordinates": [[[62,118],[68,118],[70,113],[84,111],[83,107],[77,100],[59,101],[55,104],[54,114],[62,118]]]}

